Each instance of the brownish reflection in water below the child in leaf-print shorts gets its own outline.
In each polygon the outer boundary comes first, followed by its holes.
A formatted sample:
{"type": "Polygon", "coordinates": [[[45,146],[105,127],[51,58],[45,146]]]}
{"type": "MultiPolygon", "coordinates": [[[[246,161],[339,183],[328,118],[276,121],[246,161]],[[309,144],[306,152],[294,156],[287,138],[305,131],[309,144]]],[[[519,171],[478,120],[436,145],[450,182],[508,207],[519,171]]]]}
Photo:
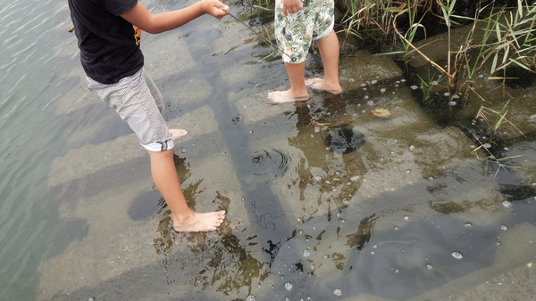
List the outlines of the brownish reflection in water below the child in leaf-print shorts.
{"type": "MultiPolygon", "coordinates": [[[[300,199],[304,202],[304,206],[316,207],[317,210],[323,210],[322,207],[327,206],[327,218],[332,218],[332,204],[335,205],[335,215],[339,215],[344,207],[348,206],[349,199],[352,199],[359,190],[364,180],[363,158],[358,151],[348,151],[342,157],[334,156],[332,151],[335,147],[330,147],[330,150],[323,150],[315,145],[324,145],[326,140],[331,138],[322,138],[326,131],[329,133],[337,132],[342,128],[333,126],[329,129],[322,125],[338,125],[339,120],[337,115],[346,115],[346,105],[344,99],[340,97],[328,98],[323,102],[314,102],[311,106],[302,106],[297,104],[297,129],[298,134],[295,137],[289,137],[289,145],[297,147],[303,151],[304,163],[298,166],[298,189],[300,199]],[[337,113],[337,114],[335,114],[337,113]],[[314,121],[313,121],[314,120],[314,121]],[[322,172],[312,172],[318,167],[322,172]],[[319,193],[314,205],[307,204],[310,199],[306,198],[306,191],[314,189],[319,193]]],[[[349,128],[352,125],[348,126],[349,128]]],[[[345,127],[346,128],[346,127],[345,127]]],[[[354,148],[357,150],[363,143],[363,134],[349,129],[352,134],[347,137],[350,144],[346,145],[345,150],[354,148]]],[[[328,134],[329,136],[329,134],[328,134]]],[[[342,149],[340,149],[342,150],[342,149]]],[[[304,208],[304,211],[310,211],[304,208]]],[[[303,221],[310,219],[317,211],[311,212],[311,216],[302,216],[303,221]]]]}

